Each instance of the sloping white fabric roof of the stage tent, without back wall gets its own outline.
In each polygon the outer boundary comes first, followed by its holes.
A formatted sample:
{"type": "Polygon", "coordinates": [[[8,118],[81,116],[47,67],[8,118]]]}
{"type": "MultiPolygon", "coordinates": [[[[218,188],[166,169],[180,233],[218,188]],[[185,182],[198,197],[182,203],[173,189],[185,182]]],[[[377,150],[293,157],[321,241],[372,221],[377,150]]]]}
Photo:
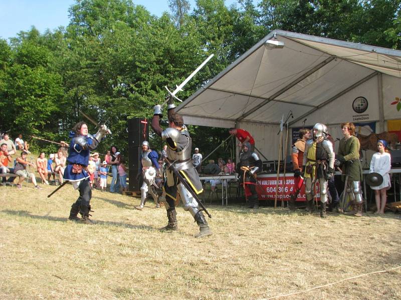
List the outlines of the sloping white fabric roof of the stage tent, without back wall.
{"type": "Polygon", "coordinates": [[[177,111],[186,123],[234,127],[279,124],[291,110],[295,123],[380,72],[401,78],[401,51],[274,30],[177,111]]]}

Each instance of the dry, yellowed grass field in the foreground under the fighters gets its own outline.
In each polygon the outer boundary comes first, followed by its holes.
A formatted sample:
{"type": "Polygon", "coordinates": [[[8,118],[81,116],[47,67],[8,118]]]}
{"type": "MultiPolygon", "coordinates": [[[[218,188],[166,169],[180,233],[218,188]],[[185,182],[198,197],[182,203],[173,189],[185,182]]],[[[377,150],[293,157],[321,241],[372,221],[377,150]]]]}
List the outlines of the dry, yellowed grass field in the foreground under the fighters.
{"type": "MultiPolygon", "coordinates": [[[[214,235],[177,208],[178,232],[160,232],[165,209],[94,191],[94,225],[67,220],[71,185],[0,186],[1,299],[400,299],[401,218],[289,214],[208,205],[214,235]]],[[[219,202],[216,202],[219,203],[219,202]]]]}

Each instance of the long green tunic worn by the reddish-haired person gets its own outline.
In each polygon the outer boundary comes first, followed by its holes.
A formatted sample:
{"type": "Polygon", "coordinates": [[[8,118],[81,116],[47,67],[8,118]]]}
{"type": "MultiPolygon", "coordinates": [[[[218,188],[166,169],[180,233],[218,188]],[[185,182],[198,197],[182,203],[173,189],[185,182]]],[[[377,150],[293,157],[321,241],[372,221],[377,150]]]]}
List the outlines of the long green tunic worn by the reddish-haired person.
{"type": "MultiPolygon", "coordinates": [[[[352,181],[362,181],[362,164],[359,160],[359,139],[351,135],[348,139],[340,139],[340,144],[338,145],[338,154],[344,156],[345,163],[343,163],[342,172],[343,174],[349,174],[349,180],[352,181]],[[352,163],[351,163],[352,161],[352,163]]],[[[345,180],[345,176],[342,176],[342,180],[345,180]]]]}

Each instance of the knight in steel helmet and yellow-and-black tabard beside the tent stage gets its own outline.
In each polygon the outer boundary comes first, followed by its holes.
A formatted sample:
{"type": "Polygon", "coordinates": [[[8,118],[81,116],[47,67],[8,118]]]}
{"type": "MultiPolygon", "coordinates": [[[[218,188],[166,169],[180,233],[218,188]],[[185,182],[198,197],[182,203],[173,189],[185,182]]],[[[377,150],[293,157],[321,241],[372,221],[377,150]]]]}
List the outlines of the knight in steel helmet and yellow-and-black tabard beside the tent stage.
{"type": "Polygon", "coordinates": [[[312,129],[312,139],[305,143],[303,169],[305,178],[305,194],[307,210],[314,210],[313,196],[314,184],[320,185],[320,216],[326,217],[327,180],[334,175],[333,144],[326,138],[327,126],[316,123],[312,129]]]}

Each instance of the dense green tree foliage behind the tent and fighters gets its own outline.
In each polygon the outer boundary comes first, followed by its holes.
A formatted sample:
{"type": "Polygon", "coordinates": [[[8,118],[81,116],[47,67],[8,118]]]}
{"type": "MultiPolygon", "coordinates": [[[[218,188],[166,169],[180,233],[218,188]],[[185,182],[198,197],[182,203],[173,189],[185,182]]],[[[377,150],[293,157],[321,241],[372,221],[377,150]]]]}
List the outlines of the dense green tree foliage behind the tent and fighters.
{"type": "MultiPolygon", "coordinates": [[[[150,118],[164,86],[214,53],[178,94],[187,98],[273,29],[401,48],[399,0],[196,0],[192,10],[187,0],[166,1],[171,14],[157,17],[131,0],[76,0],[66,28],[0,39],[0,130],[66,139],[84,111],[113,132],[99,150],[116,144],[127,154],[127,119],[150,118]]],[[[204,153],[228,136],[189,130],[204,153]]]]}

